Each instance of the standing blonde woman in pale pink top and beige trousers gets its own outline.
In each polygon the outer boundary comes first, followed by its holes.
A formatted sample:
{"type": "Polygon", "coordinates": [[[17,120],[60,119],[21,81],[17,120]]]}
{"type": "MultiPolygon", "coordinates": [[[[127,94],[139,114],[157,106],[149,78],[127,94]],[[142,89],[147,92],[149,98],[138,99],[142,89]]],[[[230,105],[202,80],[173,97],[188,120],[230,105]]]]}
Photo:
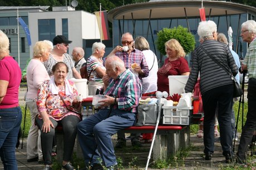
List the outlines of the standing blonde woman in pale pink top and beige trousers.
{"type": "Polygon", "coordinates": [[[27,86],[26,104],[31,113],[32,125],[28,132],[27,138],[27,162],[42,162],[43,153],[41,148],[40,132],[38,127],[34,125],[36,115],[39,114],[36,106],[37,90],[45,80],[50,80],[43,61],[49,59],[52,45],[45,41],[36,42],[33,47],[33,58],[27,66],[27,86]]]}

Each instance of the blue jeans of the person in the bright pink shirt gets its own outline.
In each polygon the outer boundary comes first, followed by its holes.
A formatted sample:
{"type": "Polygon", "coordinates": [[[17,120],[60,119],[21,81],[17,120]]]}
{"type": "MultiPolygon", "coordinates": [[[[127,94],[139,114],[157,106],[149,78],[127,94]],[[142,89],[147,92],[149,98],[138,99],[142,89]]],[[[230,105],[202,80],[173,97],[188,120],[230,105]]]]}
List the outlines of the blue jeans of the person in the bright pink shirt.
{"type": "Polygon", "coordinates": [[[0,156],[4,169],[18,169],[15,146],[21,119],[22,112],[20,107],[0,109],[0,156]]]}

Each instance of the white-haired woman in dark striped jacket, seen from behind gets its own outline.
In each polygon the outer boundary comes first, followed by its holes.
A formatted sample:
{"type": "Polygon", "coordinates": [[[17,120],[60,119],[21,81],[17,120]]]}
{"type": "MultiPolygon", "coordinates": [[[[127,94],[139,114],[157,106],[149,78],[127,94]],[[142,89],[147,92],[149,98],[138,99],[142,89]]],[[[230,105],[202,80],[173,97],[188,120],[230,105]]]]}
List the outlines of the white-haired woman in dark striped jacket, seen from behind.
{"type": "Polygon", "coordinates": [[[200,22],[198,35],[203,43],[193,52],[193,64],[186,83],[185,91],[194,89],[198,74],[200,73],[200,90],[204,108],[204,154],[205,160],[211,160],[214,152],[214,117],[218,109],[218,121],[220,127],[220,143],[228,163],[233,156],[231,111],[233,99],[233,80],[238,73],[237,65],[229,50],[228,45],[217,42],[217,27],[211,21],[200,22]],[[207,55],[202,47],[208,52],[207,55]],[[214,58],[226,70],[215,63],[214,58]]]}

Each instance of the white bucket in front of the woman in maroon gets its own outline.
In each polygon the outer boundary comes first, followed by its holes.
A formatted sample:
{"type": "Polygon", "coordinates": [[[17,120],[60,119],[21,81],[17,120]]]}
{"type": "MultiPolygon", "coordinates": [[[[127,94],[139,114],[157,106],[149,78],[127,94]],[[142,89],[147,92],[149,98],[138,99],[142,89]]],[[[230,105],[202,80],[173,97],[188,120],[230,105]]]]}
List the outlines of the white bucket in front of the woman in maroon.
{"type": "Polygon", "coordinates": [[[169,75],[169,95],[181,94],[185,88],[186,82],[189,79],[188,75],[169,75]]]}

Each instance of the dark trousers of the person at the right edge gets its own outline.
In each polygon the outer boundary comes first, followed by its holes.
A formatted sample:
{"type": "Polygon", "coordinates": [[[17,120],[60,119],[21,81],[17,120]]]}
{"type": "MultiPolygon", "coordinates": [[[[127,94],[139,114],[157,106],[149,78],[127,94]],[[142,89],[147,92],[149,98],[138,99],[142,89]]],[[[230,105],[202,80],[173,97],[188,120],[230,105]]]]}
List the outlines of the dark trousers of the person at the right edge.
{"type": "Polygon", "coordinates": [[[238,146],[237,156],[238,159],[244,161],[245,153],[247,152],[250,142],[253,138],[253,132],[256,128],[256,79],[250,78],[248,82],[248,112],[247,120],[242,130],[240,143],[238,146]]]}

